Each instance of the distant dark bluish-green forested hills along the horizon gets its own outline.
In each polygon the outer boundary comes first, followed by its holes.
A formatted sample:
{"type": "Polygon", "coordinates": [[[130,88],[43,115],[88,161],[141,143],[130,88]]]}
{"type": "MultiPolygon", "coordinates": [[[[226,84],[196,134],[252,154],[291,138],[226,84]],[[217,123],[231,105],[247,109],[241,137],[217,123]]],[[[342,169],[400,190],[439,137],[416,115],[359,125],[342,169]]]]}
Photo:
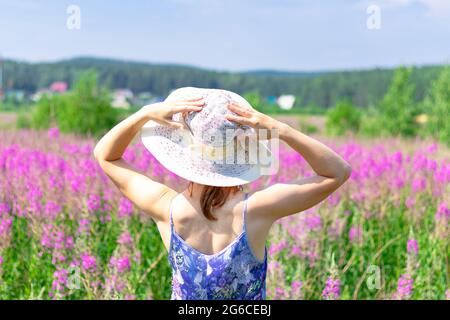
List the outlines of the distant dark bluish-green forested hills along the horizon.
{"type": "MultiPolygon", "coordinates": [[[[414,101],[422,101],[442,70],[442,66],[411,69],[414,101]]],[[[111,59],[76,58],[53,63],[4,62],[5,89],[32,93],[54,81],[65,81],[72,88],[79,74],[95,70],[99,83],[108,89],[129,88],[134,93],[151,92],[166,96],[183,86],[223,88],[261,97],[292,94],[294,108],[329,108],[345,99],[366,108],[378,104],[388,90],[392,69],[338,72],[222,72],[183,65],[164,65],[111,59]]]]}

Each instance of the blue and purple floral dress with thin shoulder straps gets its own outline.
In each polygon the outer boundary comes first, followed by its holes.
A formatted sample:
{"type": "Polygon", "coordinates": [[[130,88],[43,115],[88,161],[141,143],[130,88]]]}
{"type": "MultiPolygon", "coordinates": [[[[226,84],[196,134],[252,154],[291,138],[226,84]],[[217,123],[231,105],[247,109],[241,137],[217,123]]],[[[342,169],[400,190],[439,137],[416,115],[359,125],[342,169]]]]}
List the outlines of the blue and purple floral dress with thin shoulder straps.
{"type": "Polygon", "coordinates": [[[194,249],[173,227],[170,204],[169,263],[172,266],[172,300],[264,300],[267,247],[263,261],[253,254],[246,231],[248,193],[245,194],[242,232],[218,253],[194,249]]]}

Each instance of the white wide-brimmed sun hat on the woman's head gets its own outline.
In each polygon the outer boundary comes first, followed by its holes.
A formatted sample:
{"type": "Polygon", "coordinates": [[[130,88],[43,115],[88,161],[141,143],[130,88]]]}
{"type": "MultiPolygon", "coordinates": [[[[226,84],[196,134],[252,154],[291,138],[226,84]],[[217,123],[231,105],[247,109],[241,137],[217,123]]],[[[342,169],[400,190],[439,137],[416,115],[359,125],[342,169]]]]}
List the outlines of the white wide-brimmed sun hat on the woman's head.
{"type": "Polygon", "coordinates": [[[199,184],[238,186],[262,175],[272,174],[276,161],[267,140],[256,130],[226,119],[234,114],[229,103],[252,106],[238,94],[220,89],[184,87],[173,91],[165,101],[203,97],[201,111],[173,115],[185,129],[172,128],[150,120],[141,130],[141,140],[169,171],[199,184]]]}

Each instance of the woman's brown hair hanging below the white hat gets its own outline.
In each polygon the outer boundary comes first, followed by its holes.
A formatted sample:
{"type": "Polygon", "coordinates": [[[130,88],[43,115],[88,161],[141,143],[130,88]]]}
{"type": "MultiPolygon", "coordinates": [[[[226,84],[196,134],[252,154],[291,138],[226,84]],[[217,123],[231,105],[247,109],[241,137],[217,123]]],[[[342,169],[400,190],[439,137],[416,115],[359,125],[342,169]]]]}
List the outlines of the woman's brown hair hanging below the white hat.
{"type": "MultiPolygon", "coordinates": [[[[189,182],[188,190],[189,195],[192,196],[192,186],[193,182],[189,182]]],[[[240,186],[235,187],[215,187],[215,186],[205,186],[200,196],[200,207],[202,208],[202,213],[208,220],[217,220],[212,215],[212,209],[221,207],[227,200],[230,193],[242,190],[240,186]]]]}

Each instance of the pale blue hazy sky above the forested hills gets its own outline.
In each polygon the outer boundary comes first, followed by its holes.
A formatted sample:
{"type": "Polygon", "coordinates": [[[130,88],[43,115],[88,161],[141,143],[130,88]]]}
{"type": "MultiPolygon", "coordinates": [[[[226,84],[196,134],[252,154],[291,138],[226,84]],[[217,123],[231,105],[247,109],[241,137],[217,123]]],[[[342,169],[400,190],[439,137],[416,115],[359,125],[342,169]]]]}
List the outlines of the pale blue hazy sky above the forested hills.
{"type": "Polygon", "coordinates": [[[450,0],[0,0],[0,55],[97,56],[216,70],[450,62],[450,0]],[[66,27],[69,5],[81,29],[66,27]],[[381,10],[369,30],[366,10],[381,10]]]}

